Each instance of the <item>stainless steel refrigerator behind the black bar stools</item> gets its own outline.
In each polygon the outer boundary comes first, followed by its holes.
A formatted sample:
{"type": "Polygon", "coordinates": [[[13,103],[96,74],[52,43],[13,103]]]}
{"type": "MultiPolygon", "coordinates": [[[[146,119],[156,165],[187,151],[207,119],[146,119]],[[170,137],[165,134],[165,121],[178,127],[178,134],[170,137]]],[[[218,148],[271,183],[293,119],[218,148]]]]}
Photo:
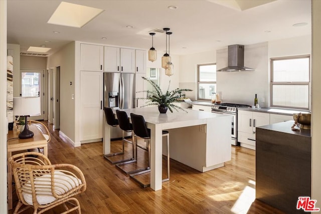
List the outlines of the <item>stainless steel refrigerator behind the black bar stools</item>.
{"type": "MultiPolygon", "coordinates": [[[[112,109],[134,108],[135,76],[130,73],[104,73],[104,106],[112,109]]],[[[130,136],[130,133],[125,133],[130,136]]],[[[121,138],[122,130],[111,128],[110,138],[121,138]]]]}

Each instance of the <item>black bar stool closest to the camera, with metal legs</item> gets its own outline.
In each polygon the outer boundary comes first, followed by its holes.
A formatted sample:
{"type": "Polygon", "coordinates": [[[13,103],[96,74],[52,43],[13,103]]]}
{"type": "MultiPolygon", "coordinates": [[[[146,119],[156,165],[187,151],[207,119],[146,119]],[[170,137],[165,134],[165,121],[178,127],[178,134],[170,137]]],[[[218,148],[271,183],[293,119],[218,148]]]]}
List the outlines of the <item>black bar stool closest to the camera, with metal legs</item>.
{"type": "MultiPolygon", "coordinates": [[[[143,184],[139,180],[135,178],[136,175],[143,174],[150,171],[150,129],[146,127],[145,119],[142,115],[137,115],[134,113],[130,113],[131,124],[133,127],[133,131],[135,133],[135,144],[137,146],[137,136],[143,139],[147,139],[147,147],[148,147],[148,167],[144,171],[136,172],[130,174],[129,177],[139,183],[139,185],[143,188],[150,186],[150,183],[143,184]]],[[[163,179],[162,181],[170,180],[170,133],[169,131],[163,130],[162,136],[167,136],[167,178],[163,179]]],[[[136,149],[136,160],[137,160],[137,149],[136,149]]]]}

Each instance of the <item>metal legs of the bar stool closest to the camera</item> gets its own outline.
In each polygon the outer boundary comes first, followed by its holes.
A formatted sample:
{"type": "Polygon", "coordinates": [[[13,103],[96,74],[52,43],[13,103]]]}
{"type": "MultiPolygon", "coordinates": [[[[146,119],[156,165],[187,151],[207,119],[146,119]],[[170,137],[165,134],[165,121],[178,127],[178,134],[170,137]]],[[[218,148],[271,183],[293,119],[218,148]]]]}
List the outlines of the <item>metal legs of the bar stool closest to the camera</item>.
{"type": "MultiPolygon", "coordinates": [[[[163,134],[163,137],[164,136],[167,137],[167,178],[163,179],[162,182],[170,180],[170,134],[169,133],[163,134]]],[[[135,142],[137,143],[137,138],[135,139],[135,142]]],[[[150,183],[144,184],[144,183],[140,182],[138,179],[136,179],[135,176],[143,174],[143,173],[150,172],[150,139],[148,139],[148,143],[147,144],[148,144],[148,167],[146,168],[146,170],[143,170],[143,171],[140,171],[140,172],[136,172],[136,173],[133,173],[133,174],[129,175],[129,177],[131,179],[136,181],[143,188],[150,186],[150,183]]],[[[136,156],[137,156],[137,151],[136,151],[136,156]]]]}

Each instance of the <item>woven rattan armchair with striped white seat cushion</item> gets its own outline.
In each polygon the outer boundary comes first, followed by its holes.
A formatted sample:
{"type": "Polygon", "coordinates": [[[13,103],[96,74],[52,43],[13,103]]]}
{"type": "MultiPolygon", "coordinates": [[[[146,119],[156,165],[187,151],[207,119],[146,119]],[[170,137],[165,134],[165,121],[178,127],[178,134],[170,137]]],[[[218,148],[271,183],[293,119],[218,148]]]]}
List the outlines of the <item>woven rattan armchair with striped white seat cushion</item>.
{"type": "Polygon", "coordinates": [[[86,190],[86,181],[78,167],[65,163],[51,164],[45,155],[38,152],[16,154],[8,161],[19,198],[14,213],[31,206],[34,214],[43,213],[59,204],[67,210],[63,213],[73,210],[81,213],[79,201],[73,196],[86,190]]]}

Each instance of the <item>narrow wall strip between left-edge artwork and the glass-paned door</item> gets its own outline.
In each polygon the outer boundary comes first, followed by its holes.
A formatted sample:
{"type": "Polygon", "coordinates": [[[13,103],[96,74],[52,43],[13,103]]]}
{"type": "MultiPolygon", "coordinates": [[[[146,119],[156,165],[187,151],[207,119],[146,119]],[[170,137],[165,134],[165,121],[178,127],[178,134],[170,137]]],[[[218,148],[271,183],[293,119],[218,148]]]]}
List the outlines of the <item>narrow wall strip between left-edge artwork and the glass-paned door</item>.
{"type": "Polygon", "coordinates": [[[20,75],[20,45],[8,44],[8,52],[13,53],[14,58],[14,97],[19,97],[21,93],[20,75]]]}

